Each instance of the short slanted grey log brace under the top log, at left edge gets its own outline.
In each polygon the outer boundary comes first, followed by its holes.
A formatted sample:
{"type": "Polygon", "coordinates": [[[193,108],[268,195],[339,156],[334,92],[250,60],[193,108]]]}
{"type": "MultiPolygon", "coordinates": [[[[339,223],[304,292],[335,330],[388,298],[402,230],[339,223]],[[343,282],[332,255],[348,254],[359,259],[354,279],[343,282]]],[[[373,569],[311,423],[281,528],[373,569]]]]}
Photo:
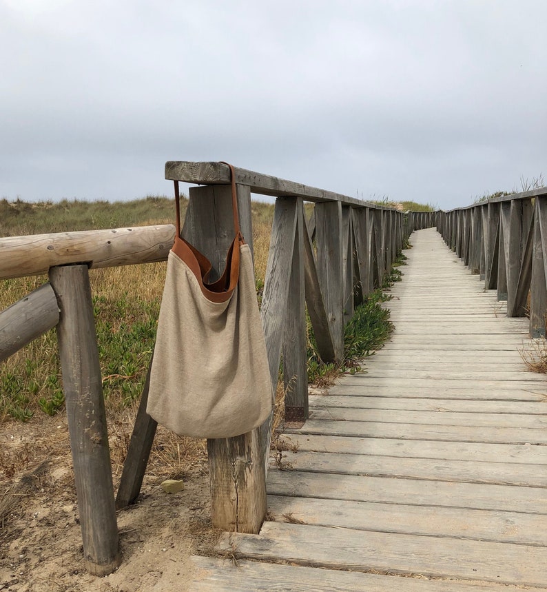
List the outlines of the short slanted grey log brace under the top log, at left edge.
{"type": "Polygon", "coordinates": [[[50,284],[0,312],[0,362],[59,323],[59,305],[50,284]]]}

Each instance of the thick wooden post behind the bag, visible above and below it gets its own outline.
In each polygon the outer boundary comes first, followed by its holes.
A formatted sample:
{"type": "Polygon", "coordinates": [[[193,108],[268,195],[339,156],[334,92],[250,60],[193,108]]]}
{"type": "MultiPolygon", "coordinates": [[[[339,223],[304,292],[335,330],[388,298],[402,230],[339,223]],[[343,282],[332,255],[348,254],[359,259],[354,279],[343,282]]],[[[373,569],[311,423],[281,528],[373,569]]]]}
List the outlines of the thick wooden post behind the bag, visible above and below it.
{"type": "MultiPolygon", "coordinates": [[[[252,250],[250,190],[238,185],[237,191],[241,232],[252,250]]],[[[234,239],[231,187],[191,187],[182,234],[211,261],[211,279],[218,276],[234,239]]],[[[267,511],[258,428],[235,438],[207,440],[207,452],[213,524],[225,531],[258,533],[267,511]]]]}

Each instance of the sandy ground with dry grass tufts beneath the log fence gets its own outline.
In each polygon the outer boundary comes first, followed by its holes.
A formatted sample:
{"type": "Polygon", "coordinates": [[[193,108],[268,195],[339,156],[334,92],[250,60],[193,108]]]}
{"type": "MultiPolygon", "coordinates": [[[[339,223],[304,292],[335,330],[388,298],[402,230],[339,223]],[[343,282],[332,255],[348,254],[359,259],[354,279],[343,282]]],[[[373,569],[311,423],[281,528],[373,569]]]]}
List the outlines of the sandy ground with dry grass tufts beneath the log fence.
{"type": "MultiPolygon", "coordinates": [[[[128,434],[110,424],[109,433],[116,487],[128,434]]],[[[218,532],[210,526],[203,443],[181,458],[180,449],[187,443],[174,438],[158,431],[141,496],[130,509],[118,511],[121,566],[97,578],[83,565],[65,416],[40,414],[26,424],[1,424],[0,590],[187,590],[192,577],[189,555],[209,553],[218,532]],[[185,489],[164,493],[161,482],[167,478],[183,478],[185,489]]]]}

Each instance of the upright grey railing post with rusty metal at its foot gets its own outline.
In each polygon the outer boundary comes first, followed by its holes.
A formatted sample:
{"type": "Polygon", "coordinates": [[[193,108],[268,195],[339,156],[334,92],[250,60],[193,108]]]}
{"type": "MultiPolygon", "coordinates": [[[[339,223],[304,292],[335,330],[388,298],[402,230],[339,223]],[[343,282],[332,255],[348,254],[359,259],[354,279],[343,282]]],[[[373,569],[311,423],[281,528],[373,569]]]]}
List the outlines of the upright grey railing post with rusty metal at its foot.
{"type": "Polygon", "coordinates": [[[306,296],[304,282],[304,205],[296,201],[296,234],[283,336],[283,382],[285,421],[304,422],[308,418],[308,371],[306,356],[306,296]]]}

